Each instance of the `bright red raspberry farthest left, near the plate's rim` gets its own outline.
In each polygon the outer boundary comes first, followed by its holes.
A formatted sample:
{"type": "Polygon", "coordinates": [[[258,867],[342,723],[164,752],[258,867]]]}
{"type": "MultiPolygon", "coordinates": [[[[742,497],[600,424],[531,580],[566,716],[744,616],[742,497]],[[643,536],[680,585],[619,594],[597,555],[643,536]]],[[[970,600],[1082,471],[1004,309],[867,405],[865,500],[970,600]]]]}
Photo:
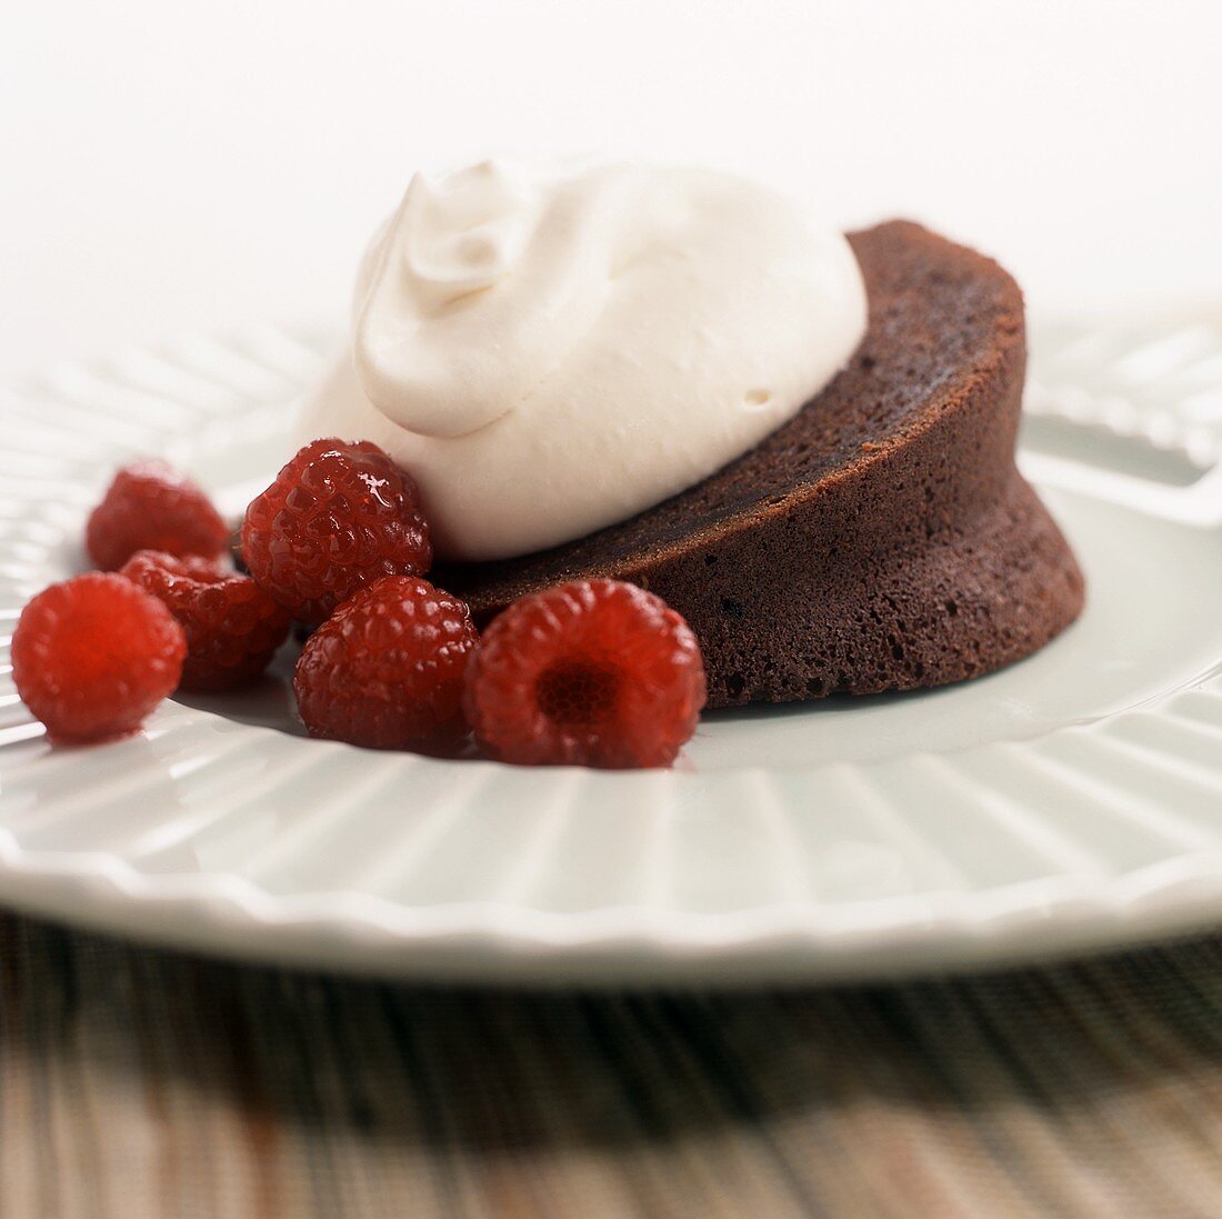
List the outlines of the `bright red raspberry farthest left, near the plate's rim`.
{"type": "Polygon", "coordinates": [[[136,731],[178,685],[186,654],[182,627],[155,597],[89,572],[22,610],[12,676],[54,740],[98,741],[136,731]]]}

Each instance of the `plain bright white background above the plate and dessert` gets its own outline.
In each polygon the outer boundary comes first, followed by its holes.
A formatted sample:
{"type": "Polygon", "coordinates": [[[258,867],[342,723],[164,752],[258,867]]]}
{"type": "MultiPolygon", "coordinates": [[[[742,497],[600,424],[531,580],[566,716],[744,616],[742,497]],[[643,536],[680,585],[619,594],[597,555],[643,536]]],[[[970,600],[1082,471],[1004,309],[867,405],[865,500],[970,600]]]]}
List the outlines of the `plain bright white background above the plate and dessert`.
{"type": "Polygon", "coordinates": [[[747,169],[907,214],[1036,311],[1222,298],[1217,0],[76,0],[0,37],[0,374],[346,311],[415,168],[747,169]]]}

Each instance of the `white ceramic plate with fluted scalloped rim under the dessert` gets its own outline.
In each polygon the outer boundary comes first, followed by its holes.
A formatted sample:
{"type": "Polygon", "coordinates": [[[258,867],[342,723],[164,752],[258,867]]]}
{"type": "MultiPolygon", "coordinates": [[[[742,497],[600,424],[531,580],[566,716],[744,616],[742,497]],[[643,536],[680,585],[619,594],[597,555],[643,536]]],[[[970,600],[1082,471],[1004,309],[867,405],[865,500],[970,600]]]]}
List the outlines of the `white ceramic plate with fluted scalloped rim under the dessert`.
{"type": "MultiPolygon", "coordinates": [[[[273,330],[197,337],[7,395],[7,630],[79,565],[84,514],[133,455],[191,467],[238,510],[282,460],[318,351],[273,330]]],[[[307,741],[279,681],[53,749],[10,682],[0,899],[477,981],[877,977],[1222,922],[1222,335],[1062,328],[1035,367],[1023,461],[1090,604],[1030,660],[709,715],[676,772],[638,774],[307,741]]]]}

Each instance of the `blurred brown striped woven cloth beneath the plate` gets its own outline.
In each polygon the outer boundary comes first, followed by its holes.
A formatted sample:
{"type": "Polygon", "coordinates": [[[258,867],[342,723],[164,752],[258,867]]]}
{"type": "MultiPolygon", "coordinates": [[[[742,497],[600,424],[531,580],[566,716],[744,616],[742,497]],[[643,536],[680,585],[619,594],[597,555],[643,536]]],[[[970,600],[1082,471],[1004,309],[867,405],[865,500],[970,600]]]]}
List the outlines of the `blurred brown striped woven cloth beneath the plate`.
{"type": "Polygon", "coordinates": [[[1217,1215],[1222,944],[789,993],[407,988],[0,917],[0,1215],[1217,1215]]]}

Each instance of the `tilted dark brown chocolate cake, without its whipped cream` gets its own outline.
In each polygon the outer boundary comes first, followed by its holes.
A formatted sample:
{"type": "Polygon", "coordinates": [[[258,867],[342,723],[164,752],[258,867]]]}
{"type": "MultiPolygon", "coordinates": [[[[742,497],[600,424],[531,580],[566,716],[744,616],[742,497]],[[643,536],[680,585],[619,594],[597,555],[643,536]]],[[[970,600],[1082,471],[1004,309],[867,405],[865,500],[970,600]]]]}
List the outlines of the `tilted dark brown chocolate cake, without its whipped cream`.
{"type": "Polygon", "coordinates": [[[915,224],[849,240],[869,329],[789,423],[632,520],[434,578],[485,620],[566,580],[649,588],[697,632],[711,707],[940,686],[1064,630],[1081,572],[1014,465],[1018,285],[915,224]]]}

